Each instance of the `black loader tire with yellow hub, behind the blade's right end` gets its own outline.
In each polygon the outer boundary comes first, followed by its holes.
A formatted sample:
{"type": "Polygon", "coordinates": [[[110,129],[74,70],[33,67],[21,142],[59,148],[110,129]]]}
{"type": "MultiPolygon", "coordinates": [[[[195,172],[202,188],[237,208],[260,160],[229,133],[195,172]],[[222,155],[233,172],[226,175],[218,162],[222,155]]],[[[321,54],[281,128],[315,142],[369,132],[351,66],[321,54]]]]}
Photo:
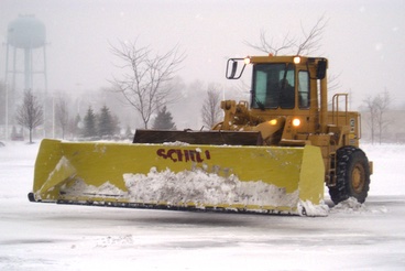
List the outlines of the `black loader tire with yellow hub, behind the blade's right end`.
{"type": "Polygon", "coordinates": [[[336,186],[329,187],[335,204],[354,197],[364,203],[370,188],[370,166],[365,153],[354,147],[337,151],[336,186]]]}

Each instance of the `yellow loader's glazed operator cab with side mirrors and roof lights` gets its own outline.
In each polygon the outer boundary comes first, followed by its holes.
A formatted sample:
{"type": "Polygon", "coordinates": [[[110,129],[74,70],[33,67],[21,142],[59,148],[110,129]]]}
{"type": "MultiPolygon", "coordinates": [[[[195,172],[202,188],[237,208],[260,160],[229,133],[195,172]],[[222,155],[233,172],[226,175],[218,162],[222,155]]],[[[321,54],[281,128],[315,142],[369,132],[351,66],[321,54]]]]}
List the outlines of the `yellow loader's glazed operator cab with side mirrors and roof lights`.
{"type": "Polygon", "coordinates": [[[326,77],[327,59],[302,56],[229,58],[226,77],[239,79],[252,65],[251,108],[260,110],[318,109],[317,79],[326,77]],[[242,67],[239,64],[242,64],[242,67]]]}

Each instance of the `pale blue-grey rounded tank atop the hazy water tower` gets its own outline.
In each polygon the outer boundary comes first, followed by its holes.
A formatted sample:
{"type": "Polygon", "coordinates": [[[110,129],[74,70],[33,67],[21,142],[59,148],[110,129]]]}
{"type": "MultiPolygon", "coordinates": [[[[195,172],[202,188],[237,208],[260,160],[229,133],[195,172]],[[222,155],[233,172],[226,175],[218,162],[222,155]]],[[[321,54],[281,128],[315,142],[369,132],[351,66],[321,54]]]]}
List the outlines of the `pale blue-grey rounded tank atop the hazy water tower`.
{"type": "Polygon", "coordinates": [[[8,25],[7,41],[18,48],[37,48],[45,45],[45,24],[34,15],[20,15],[8,25]]]}

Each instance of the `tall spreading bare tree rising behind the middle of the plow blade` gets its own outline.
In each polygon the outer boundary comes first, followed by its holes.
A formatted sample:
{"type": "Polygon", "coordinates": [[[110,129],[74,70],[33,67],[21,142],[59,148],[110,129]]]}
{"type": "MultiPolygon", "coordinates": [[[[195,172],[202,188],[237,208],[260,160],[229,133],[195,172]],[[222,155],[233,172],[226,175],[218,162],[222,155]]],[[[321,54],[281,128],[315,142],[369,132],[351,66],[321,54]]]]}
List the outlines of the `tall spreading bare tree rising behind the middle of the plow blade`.
{"type": "Polygon", "coordinates": [[[175,100],[169,82],[185,55],[175,46],[163,55],[151,56],[150,47],[140,47],[136,42],[120,42],[119,47],[111,45],[111,52],[123,63],[117,65],[122,69],[122,75],[111,82],[113,89],[135,108],[147,129],[158,108],[175,100]]]}

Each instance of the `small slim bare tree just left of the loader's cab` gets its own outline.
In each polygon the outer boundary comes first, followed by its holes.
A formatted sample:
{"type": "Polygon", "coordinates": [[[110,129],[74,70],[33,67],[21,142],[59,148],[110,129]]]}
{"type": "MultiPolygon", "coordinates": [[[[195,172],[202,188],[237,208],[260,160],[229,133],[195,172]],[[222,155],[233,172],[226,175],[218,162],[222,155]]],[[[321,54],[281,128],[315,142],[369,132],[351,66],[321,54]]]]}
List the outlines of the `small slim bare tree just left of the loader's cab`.
{"type": "Polygon", "coordinates": [[[218,88],[214,84],[209,85],[201,109],[202,123],[205,126],[211,128],[219,122],[221,117],[220,102],[220,91],[218,91],[218,88]]]}

